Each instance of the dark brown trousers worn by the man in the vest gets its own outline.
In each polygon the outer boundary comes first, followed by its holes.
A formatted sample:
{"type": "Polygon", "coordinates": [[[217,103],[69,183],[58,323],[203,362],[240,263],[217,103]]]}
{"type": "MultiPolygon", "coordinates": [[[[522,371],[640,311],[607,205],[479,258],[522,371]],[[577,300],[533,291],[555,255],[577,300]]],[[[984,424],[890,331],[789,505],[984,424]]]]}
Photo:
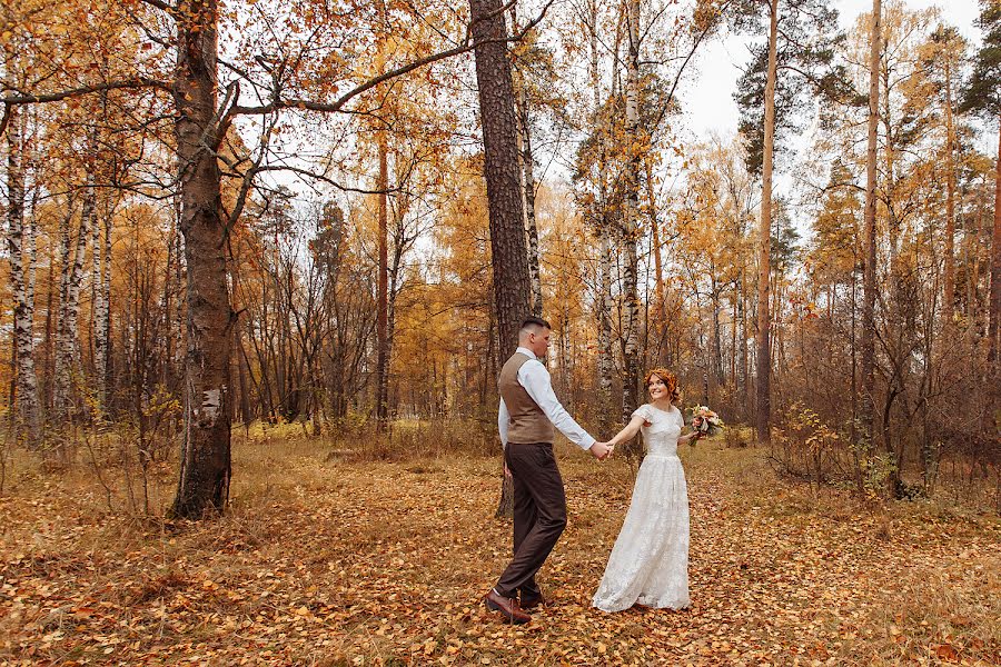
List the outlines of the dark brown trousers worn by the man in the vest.
{"type": "Polygon", "coordinates": [[[504,597],[539,595],[535,573],[566,528],[566,494],[553,445],[508,442],[504,460],[514,482],[514,558],[495,587],[504,597]]]}

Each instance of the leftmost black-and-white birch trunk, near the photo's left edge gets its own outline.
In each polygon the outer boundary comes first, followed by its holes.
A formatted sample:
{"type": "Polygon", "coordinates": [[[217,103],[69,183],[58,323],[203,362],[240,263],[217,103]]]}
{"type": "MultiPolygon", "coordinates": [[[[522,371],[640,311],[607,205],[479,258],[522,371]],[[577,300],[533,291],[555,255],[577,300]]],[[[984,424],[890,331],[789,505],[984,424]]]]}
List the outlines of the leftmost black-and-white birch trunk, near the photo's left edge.
{"type": "MultiPolygon", "coordinates": [[[[7,127],[7,221],[9,226],[7,246],[10,255],[10,285],[13,292],[13,337],[17,358],[17,424],[19,438],[28,446],[41,445],[41,401],[38,394],[38,377],[34,372],[33,299],[29,297],[29,273],[32,267],[24,266],[26,245],[33,246],[32,228],[24,233],[24,166],[21,143],[21,118],[17,108],[11,108],[7,127]],[[28,238],[26,238],[26,236],[28,238]]],[[[29,257],[30,253],[29,251],[29,257]]]]}

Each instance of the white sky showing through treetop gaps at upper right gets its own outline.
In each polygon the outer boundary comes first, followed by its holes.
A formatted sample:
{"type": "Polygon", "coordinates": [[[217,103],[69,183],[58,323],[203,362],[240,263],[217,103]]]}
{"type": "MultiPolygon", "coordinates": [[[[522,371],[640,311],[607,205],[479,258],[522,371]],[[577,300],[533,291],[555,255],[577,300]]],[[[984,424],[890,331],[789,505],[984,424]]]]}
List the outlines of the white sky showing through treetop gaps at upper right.
{"type": "MultiPolygon", "coordinates": [[[[977,0],[905,0],[904,4],[912,9],[948,8],[943,9],[942,19],[955,26],[972,48],[979,48],[980,30],[974,24],[980,16],[977,0]]],[[[872,11],[872,0],[836,0],[834,6],[844,29],[851,28],[860,14],[872,11]]],[[[712,41],[702,52],[695,84],[690,84],[682,97],[685,123],[696,137],[704,138],[713,132],[725,137],[736,131],[740,113],[733,92],[747,61],[747,44],[752,41],[727,36],[712,41]]]]}

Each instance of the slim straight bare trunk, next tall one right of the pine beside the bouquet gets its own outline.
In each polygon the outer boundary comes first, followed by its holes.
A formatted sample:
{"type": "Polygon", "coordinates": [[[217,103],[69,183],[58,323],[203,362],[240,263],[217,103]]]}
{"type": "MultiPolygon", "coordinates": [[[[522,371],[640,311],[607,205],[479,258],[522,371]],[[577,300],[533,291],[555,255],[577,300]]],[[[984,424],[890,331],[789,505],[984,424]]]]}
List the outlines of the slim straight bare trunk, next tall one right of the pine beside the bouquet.
{"type": "MultiPolygon", "coordinates": [[[[872,451],[873,406],[875,400],[875,188],[876,188],[876,126],[880,103],[880,0],[872,2],[872,31],[869,56],[869,149],[865,176],[865,226],[863,232],[864,267],[862,278],[862,400],[859,407],[862,452],[872,451]]],[[[864,460],[863,460],[864,464],[864,460]]]]}

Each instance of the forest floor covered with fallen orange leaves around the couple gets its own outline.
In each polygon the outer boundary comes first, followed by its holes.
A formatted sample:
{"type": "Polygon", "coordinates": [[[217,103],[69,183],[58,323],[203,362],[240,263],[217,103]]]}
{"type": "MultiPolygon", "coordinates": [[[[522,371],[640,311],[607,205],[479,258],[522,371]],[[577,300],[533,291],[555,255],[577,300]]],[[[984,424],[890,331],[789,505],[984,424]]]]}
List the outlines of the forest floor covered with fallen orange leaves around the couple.
{"type": "MultiPolygon", "coordinates": [[[[761,450],[702,442],[682,451],[692,607],[608,615],[591,597],[631,471],[557,449],[569,525],[539,575],[551,604],[526,626],[480,601],[508,558],[499,458],[353,462],[305,438],[237,441],[231,508],[200,524],[130,518],[111,470],[100,484],[16,461],[0,665],[1001,664],[997,514],[873,514],[777,479],[761,450]]],[[[150,485],[157,511],[169,479],[165,466],[150,485]]]]}

